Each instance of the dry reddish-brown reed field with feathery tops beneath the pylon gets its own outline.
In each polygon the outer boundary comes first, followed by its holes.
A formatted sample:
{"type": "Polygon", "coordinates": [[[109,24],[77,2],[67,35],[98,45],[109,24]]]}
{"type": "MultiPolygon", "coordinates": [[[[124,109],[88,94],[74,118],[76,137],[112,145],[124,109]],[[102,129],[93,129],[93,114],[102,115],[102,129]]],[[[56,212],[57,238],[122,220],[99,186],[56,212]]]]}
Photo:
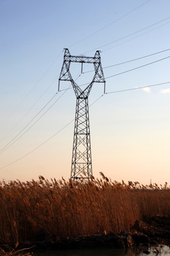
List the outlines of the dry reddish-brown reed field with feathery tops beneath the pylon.
{"type": "Polygon", "coordinates": [[[170,188],[112,182],[101,173],[90,181],[0,183],[0,245],[36,238],[40,228],[56,238],[120,233],[145,216],[170,215],[170,188]]]}

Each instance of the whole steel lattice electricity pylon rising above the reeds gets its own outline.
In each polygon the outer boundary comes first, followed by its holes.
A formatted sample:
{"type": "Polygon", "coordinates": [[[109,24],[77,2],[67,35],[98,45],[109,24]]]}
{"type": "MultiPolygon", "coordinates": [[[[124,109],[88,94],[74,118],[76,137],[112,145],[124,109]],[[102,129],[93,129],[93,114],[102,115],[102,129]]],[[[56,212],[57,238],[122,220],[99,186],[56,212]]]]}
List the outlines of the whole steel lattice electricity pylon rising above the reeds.
{"type": "Polygon", "coordinates": [[[77,97],[76,114],[74,122],[74,139],[72,150],[72,167],[71,178],[90,178],[92,176],[91,163],[91,138],[89,124],[89,103],[88,97],[94,82],[104,83],[104,92],[106,81],[101,66],[100,51],[97,50],[94,57],[74,56],[69,53],[67,48],[64,49],[64,62],[59,78],[58,90],[60,90],[60,81],[70,81],[77,97]],[[71,63],[81,63],[81,73],[83,63],[94,64],[94,78],[89,85],[83,90],[73,80],[69,71],[71,63]]]}

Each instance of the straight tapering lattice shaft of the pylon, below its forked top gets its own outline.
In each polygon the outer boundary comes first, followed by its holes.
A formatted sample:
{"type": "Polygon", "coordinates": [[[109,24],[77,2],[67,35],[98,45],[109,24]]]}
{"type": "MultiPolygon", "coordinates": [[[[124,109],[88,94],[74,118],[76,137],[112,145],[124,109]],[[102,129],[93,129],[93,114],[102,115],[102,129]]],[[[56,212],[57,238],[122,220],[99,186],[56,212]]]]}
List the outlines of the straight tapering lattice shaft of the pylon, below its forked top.
{"type": "Polygon", "coordinates": [[[88,97],[77,97],[71,178],[90,178],[91,175],[89,102],[88,97]]]}

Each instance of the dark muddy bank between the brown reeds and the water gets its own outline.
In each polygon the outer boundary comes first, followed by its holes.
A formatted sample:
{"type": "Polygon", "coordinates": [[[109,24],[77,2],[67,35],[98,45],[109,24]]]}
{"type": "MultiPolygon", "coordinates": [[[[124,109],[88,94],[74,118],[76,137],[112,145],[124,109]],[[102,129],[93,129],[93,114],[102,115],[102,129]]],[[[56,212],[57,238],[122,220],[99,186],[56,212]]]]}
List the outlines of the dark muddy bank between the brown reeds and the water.
{"type": "MultiPolygon", "coordinates": [[[[170,245],[170,217],[155,216],[145,218],[140,224],[137,220],[130,232],[119,234],[95,234],[87,236],[72,237],[49,237],[45,229],[41,229],[38,237],[18,245],[18,249],[30,248],[35,250],[75,250],[94,248],[121,248],[135,250],[149,254],[149,247],[157,245],[170,245]]],[[[0,247],[6,249],[5,245],[0,247]]]]}

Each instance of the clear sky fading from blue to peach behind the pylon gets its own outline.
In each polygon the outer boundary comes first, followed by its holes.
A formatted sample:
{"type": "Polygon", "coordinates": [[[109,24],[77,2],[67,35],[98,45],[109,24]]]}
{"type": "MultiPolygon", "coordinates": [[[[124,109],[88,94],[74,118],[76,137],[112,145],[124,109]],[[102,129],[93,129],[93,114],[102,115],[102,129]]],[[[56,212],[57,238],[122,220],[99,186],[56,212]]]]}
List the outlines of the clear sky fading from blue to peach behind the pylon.
{"type": "MultiPolygon", "coordinates": [[[[74,122],[62,128],[74,119],[73,90],[57,94],[35,117],[57,92],[63,49],[87,56],[101,50],[106,78],[169,57],[169,10],[169,0],[0,0],[0,151],[58,99],[1,152],[0,180],[70,176],[74,122]]],[[[108,78],[106,92],[169,82],[169,66],[166,58],[108,78]]],[[[81,66],[72,66],[74,79],[80,72],[81,66]]],[[[92,76],[81,75],[77,83],[92,76]]],[[[60,89],[68,86],[61,82],[60,89]]],[[[89,105],[102,94],[103,85],[94,84],[89,105]]],[[[94,176],[102,171],[113,181],[170,183],[170,83],[103,95],[90,107],[90,124],[94,176]]]]}

